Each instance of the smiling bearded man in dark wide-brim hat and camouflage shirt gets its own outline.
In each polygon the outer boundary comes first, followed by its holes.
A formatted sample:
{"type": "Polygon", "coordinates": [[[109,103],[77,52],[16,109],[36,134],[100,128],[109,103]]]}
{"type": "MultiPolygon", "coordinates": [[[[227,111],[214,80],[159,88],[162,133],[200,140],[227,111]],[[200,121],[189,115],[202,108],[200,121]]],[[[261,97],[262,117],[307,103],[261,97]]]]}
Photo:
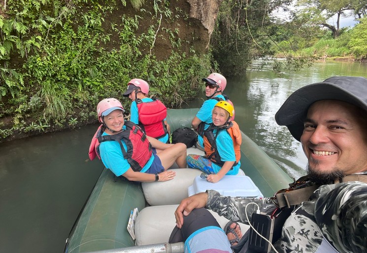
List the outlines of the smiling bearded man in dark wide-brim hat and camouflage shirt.
{"type": "MultiPolygon", "coordinates": [[[[367,252],[367,79],[332,77],[304,86],[275,120],[301,142],[307,176],[274,197],[231,198],[208,190],[186,198],[175,212],[177,227],[184,234],[184,221],[200,207],[247,223],[245,210],[251,220],[258,207],[249,203],[256,203],[274,226],[273,246],[264,252],[367,252]]],[[[231,227],[227,236],[235,239],[241,232],[231,227]]],[[[233,245],[235,252],[254,252],[250,230],[233,245]]]]}

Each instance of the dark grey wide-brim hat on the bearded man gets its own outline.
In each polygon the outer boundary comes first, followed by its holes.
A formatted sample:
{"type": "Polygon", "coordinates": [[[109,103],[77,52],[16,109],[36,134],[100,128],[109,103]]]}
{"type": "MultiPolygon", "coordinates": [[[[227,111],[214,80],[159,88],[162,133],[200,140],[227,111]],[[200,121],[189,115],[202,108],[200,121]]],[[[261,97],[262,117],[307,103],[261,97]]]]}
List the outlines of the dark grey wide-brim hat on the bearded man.
{"type": "Polygon", "coordinates": [[[300,141],[308,108],[316,101],[326,99],[355,105],[365,110],[367,116],[367,79],[331,77],[324,82],[301,87],[292,93],[275,113],[275,121],[280,126],[287,126],[292,136],[300,141]]]}

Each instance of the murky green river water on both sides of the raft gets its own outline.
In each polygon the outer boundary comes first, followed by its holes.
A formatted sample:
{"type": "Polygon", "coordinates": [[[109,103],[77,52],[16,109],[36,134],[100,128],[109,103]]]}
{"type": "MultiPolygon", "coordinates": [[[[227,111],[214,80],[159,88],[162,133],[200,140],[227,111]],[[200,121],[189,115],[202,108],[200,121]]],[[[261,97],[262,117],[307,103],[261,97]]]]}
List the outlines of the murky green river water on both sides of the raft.
{"type": "MultiPolygon", "coordinates": [[[[290,176],[299,177],[306,165],[300,143],[275,123],[274,114],[296,89],[343,75],[367,77],[367,64],[325,61],[281,75],[266,67],[228,80],[225,91],[240,129],[290,176]]],[[[97,126],[0,144],[0,252],[63,251],[102,169],[87,154],[97,126]]]]}

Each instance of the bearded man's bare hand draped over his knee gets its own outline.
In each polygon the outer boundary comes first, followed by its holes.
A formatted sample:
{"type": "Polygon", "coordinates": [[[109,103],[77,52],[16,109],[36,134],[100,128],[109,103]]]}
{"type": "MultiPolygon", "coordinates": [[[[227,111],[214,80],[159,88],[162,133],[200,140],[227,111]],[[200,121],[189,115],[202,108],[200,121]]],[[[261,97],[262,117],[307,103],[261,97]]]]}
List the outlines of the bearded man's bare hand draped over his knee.
{"type": "Polygon", "coordinates": [[[187,197],[183,199],[180,205],[177,207],[174,212],[174,216],[176,217],[176,225],[178,228],[181,228],[183,225],[183,216],[187,216],[190,212],[195,208],[205,207],[206,201],[208,199],[207,193],[199,193],[191,197],[187,197]]]}

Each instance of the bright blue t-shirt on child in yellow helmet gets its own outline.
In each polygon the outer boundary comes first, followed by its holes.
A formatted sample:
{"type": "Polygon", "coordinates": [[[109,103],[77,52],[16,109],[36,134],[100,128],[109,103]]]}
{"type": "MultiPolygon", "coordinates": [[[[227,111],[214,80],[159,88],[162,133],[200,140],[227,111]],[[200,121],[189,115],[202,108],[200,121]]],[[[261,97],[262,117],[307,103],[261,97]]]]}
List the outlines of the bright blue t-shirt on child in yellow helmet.
{"type": "MultiPolygon", "coordinates": [[[[216,135],[217,130],[213,131],[214,136],[216,135]]],[[[231,135],[226,130],[220,130],[215,140],[217,144],[217,150],[221,157],[222,162],[235,161],[236,156],[234,153],[234,146],[231,135]]],[[[236,175],[238,173],[239,167],[241,166],[241,162],[238,161],[238,164],[230,169],[226,175],[236,175]]],[[[213,164],[213,170],[218,173],[218,171],[222,169],[222,167],[213,164]]]]}

